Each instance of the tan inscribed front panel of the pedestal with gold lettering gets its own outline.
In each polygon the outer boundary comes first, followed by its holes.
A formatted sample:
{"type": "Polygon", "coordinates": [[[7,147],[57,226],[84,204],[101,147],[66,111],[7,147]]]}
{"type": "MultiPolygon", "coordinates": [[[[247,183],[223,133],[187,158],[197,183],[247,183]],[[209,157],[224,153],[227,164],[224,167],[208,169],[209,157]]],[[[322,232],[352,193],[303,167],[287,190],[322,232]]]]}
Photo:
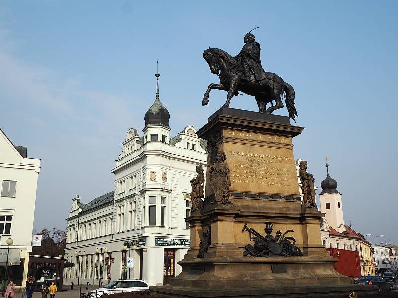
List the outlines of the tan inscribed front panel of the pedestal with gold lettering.
{"type": "Polygon", "coordinates": [[[299,195],[293,150],[274,144],[292,144],[291,138],[229,130],[223,133],[229,137],[223,150],[230,170],[230,191],[299,195]]]}

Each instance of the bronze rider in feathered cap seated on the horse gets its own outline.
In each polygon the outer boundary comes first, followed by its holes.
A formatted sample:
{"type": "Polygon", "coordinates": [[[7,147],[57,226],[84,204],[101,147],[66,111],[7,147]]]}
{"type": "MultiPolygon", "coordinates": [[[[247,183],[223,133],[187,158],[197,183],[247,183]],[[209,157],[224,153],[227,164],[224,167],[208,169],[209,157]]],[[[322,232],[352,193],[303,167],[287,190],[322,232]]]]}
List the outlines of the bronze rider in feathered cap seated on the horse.
{"type": "Polygon", "coordinates": [[[242,80],[250,82],[253,73],[256,81],[266,78],[267,75],[261,66],[260,44],[256,42],[254,35],[250,32],[245,35],[244,42],[245,45],[235,57],[235,59],[242,61],[242,80]]]}

